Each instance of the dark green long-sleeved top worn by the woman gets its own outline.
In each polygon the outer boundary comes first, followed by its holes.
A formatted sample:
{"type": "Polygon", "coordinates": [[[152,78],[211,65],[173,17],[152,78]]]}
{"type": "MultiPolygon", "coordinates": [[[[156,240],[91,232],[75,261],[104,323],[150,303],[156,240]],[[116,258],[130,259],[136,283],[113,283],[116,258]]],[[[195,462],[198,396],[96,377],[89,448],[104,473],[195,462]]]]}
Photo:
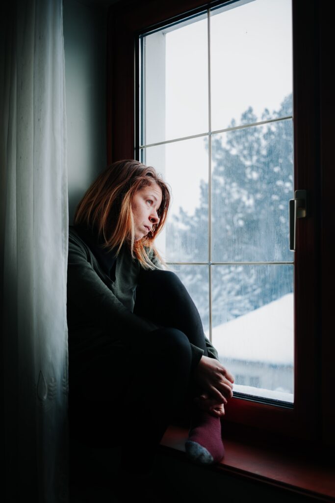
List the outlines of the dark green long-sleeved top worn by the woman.
{"type": "MultiPolygon", "coordinates": [[[[69,226],[68,341],[70,365],[75,361],[78,369],[85,368],[92,349],[99,347],[103,350],[103,346],[110,343],[125,348],[131,342],[129,337],[143,336],[145,340],[146,332],[157,329],[157,325],[149,319],[133,313],[142,266],[137,260],[132,259],[129,248],[126,246],[122,248],[115,264],[115,278],[109,277],[106,267],[103,267],[105,251],[101,248],[96,250],[86,237],[81,229],[69,226]],[[99,256],[98,262],[96,255],[99,253],[102,255],[99,256]]],[[[152,253],[150,258],[162,269],[152,253]]],[[[218,360],[215,348],[207,338],[205,342],[208,356],[218,360]]],[[[191,344],[191,351],[192,369],[194,369],[203,355],[203,350],[191,344]]]]}

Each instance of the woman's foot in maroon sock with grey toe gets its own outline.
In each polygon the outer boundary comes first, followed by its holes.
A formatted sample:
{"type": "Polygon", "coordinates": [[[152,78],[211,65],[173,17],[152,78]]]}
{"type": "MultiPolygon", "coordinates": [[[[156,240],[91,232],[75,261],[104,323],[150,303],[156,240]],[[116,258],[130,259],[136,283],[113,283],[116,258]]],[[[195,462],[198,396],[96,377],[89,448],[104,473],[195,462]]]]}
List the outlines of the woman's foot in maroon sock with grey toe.
{"type": "Polygon", "coordinates": [[[185,450],[187,457],[198,464],[221,461],[225,448],[221,438],[220,418],[194,408],[185,450]]]}

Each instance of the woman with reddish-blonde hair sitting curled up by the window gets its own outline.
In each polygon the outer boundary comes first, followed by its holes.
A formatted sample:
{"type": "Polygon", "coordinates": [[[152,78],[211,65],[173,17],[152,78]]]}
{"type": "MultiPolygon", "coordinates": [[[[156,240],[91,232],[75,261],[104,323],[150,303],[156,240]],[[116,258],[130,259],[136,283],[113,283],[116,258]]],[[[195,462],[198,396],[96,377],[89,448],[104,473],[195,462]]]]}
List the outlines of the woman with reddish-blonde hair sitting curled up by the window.
{"type": "Polygon", "coordinates": [[[136,449],[141,476],[150,478],[160,440],[185,404],[187,456],[209,464],[224,455],[220,417],[234,379],[184,285],[162,267],[154,240],[169,204],[153,167],[122,160],[87,190],[69,227],[70,410],[86,400],[102,417],[110,407],[109,430],[122,431],[120,476],[136,449]]]}

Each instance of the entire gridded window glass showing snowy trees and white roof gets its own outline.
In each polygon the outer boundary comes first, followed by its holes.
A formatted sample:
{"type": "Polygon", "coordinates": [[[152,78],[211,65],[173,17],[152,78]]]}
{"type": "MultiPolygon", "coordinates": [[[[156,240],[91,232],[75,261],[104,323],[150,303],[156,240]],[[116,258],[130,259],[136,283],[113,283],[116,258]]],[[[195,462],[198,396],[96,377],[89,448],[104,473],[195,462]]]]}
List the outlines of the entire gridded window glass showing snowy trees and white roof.
{"type": "Polygon", "coordinates": [[[140,36],[140,160],[172,188],[156,243],[237,396],[293,403],[290,0],[222,4],[140,36]]]}

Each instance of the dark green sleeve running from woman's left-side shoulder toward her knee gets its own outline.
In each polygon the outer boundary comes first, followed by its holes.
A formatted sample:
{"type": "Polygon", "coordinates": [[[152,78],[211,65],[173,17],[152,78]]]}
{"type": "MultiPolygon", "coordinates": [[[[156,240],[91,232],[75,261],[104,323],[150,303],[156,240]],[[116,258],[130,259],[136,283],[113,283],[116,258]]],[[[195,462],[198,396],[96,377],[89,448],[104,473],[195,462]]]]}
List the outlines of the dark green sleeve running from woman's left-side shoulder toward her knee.
{"type": "Polygon", "coordinates": [[[128,333],[138,337],[157,326],[150,320],[137,316],[104,284],[89,262],[87,251],[72,236],[69,236],[67,298],[85,316],[92,316],[107,333],[128,333]]]}

